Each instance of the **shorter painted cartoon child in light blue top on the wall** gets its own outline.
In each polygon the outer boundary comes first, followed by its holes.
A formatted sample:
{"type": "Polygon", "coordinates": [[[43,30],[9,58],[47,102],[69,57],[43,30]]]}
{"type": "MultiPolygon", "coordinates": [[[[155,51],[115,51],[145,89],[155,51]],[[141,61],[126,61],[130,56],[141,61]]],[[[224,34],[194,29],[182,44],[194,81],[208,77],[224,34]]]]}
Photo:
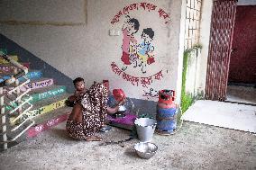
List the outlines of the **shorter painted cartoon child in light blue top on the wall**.
{"type": "Polygon", "coordinates": [[[151,45],[151,41],[154,37],[154,31],[151,28],[143,29],[142,31],[142,43],[138,45],[138,57],[141,61],[139,64],[142,67],[142,73],[146,73],[147,64],[154,63],[153,58],[154,47],[151,45]]]}

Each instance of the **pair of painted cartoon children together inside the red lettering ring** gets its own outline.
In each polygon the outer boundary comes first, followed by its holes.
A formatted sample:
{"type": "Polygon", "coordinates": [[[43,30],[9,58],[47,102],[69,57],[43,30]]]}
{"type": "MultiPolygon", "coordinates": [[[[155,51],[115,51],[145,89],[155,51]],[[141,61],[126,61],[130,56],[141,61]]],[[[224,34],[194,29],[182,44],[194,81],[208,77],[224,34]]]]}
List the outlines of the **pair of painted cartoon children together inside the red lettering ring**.
{"type": "Polygon", "coordinates": [[[137,19],[125,16],[126,21],[123,24],[123,61],[122,70],[124,71],[133,63],[133,67],[142,67],[142,73],[146,73],[146,66],[155,62],[153,58],[154,47],[151,41],[154,37],[154,31],[151,28],[143,29],[142,43],[137,44],[134,34],[139,31],[140,23],[137,19]]]}

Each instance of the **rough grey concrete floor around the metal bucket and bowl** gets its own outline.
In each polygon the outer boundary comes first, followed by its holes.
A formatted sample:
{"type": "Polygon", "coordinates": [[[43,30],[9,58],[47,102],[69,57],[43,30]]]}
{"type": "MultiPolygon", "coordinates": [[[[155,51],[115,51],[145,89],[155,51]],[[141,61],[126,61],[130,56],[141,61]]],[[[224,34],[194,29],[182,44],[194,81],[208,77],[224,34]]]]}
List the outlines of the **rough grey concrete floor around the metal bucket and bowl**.
{"type": "Polygon", "coordinates": [[[104,141],[69,139],[65,122],[0,153],[1,170],[23,169],[256,169],[256,136],[239,130],[184,122],[171,136],[153,136],[159,147],[151,159],[138,157],[137,139],[113,128],[100,133],[104,141]]]}

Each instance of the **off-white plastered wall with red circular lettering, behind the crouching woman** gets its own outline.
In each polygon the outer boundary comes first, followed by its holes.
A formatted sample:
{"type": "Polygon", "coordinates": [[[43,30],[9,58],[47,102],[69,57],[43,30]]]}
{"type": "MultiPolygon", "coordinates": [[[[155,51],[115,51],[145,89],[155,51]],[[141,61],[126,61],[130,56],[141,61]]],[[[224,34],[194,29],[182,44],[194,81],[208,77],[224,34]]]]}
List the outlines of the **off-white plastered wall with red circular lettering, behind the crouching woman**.
{"type": "MultiPolygon", "coordinates": [[[[69,4],[69,1],[64,3],[69,4]]],[[[37,18],[46,24],[10,25],[1,22],[0,32],[70,78],[84,77],[87,85],[108,79],[112,89],[123,88],[129,97],[152,101],[157,100],[156,94],[160,89],[177,89],[181,1],[80,0],[72,3],[73,7],[59,12],[67,13],[69,10],[75,13],[67,21],[61,16],[54,17],[56,11],[52,10],[44,13],[46,16],[42,19],[37,18]],[[87,5],[83,4],[85,2],[87,5]],[[143,6],[141,3],[144,2],[147,4],[143,6]],[[78,14],[82,14],[83,9],[74,7],[80,5],[87,6],[84,18],[78,14]],[[143,72],[142,67],[134,67],[134,63],[122,70],[122,27],[127,14],[140,23],[139,31],[133,34],[138,45],[143,42],[143,29],[154,31],[150,46],[154,62],[151,60],[151,64],[145,64],[143,72]],[[48,21],[74,24],[54,25],[47,24],[48,21]],[[83,21],[84,24],[76,24],[83,21]],[[110,31],[114,36],[110,36],[110,31]]],[[[22,3],[14,6],[17,8],[12,9],[14,13],[24,7],[22,3]]],[[[1,12],[0,16],[2,14],[5,15],[1,12]]],[[[29,16],[22,19],[27,18],[31,19],[29,16]]],[[[0,17],[0,20],[8,18],[0,17]]],[[[143,46],[141,49],[147,50],[143,46]]]]}

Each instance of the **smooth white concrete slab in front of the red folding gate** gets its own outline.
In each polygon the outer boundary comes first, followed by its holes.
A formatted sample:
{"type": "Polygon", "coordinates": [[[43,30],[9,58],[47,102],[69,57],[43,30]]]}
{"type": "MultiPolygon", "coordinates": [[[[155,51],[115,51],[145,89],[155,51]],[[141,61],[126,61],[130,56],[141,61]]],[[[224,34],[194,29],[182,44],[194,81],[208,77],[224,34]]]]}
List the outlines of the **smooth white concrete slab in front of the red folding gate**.
{"type": "Polygon", "coordinates": [[[198,100],[181,119],[256,133],[256,105],[198,100]]]}

